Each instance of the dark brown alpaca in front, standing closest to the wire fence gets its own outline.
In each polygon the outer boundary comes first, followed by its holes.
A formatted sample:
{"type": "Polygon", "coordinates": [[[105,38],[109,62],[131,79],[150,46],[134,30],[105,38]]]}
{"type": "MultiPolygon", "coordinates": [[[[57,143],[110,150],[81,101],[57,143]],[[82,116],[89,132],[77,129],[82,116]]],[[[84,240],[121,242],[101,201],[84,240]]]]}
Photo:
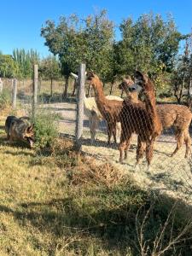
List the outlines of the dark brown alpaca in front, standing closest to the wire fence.
{"type": "Polygon", "coordinates": [[[162,131],[159,115],[156,111],[154,85],[147,76],[136,72],[136,83],[130,90],[143,90],[144,102],[124,101],[119,113],[121,123],[121,137],[119,143],[119,161],[123,162],[123,154],[127,158],[127,149],[130,145],[131,134],[136,133],[137,138],[137,164],[143,157],[143,143],[146,144],[146,159],[148,168],[154,152],[154,141],[162,131]]]}

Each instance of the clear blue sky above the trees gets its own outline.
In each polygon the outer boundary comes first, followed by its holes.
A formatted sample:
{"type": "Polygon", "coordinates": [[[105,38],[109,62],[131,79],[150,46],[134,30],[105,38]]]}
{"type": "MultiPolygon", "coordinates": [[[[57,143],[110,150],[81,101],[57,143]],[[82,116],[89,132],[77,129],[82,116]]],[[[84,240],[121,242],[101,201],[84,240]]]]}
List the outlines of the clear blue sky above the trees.
{"type": "Polygon", "coordinates": [[[46,20],[57,22],[61,15],[77,14],[84,18],[101,9],[108,10],[108,19],[116,26],[116,39],[119,40],[120,22],[131,16],[133,20],[142,14],[153,11],[166,19],[172,14],[179,32],[191,32],[192,0],[0,0],[0,51],[12,54],[13,49],[37,49],[41,57],[49,55],[40,36],[46,20]]]}

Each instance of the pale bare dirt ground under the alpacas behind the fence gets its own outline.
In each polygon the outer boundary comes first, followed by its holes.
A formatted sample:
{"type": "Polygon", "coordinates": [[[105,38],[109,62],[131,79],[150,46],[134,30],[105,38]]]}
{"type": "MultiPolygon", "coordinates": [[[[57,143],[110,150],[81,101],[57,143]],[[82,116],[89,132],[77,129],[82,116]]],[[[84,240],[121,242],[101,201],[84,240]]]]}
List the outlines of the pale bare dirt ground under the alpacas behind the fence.
{"type": "MultiPolygon", "coordinates": [[[[76,104],[75,103],[56,103],[49,104],[46,108],[60,113],[60,131],[65,137],[74,137],[76,104]]],[[[98,163],[109,161],[113,166],[119,168],[121,172],[130,175],[140,186],[148,189],[153,188],[160,192],[177,196],[192,203],[192,172],[191,172],[191,155],[189,159],[184,159],[185,146],[171,157],[176,141],[174,131],[164,131],[157,139],[154,146],[154,159],[151,169],[148,172],[145,158],[136,170],[136,148],[137,136],[132,139],[131,149],[128,153],[128,160],[123,165],[119,164],[119,150],[117,145],[112,143],[107,145],[106,126],[102,122],[96,133],[96,142],[91,145],[89,121],[84,116],[84,133],[83,133],[83,151],[87,157],[94,157],[98,163]]]]}

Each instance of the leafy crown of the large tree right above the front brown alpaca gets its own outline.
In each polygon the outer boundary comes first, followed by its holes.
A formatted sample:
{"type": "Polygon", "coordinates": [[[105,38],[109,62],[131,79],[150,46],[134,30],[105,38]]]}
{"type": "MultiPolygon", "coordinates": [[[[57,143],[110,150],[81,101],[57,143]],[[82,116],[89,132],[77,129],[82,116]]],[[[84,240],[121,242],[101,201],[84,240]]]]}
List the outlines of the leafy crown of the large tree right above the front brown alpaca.
{"type": "Polygon", "coordinates": [[[139,69],[153,79],[159,72],[171,73],[182,36],[171,16],[167,21],[160,15],[141,15],[134,23],[131,18],[119,26],[122,40],[116,44],[119,73],[139,69]]]}

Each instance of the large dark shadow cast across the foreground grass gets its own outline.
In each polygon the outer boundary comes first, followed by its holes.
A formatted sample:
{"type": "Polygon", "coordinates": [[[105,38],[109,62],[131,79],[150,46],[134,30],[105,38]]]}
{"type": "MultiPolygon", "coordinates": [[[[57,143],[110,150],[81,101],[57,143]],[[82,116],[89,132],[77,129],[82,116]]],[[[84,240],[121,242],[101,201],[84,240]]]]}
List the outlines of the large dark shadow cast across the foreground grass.
{"type": "MultiPolygon", "coordinates": [[[[177,203],[178,208],[174,212],[175,222],[172,224],[173,235],[171,236],[176,236],[186,219],[191,218],[192,207],[166,195],[159,197],[155,195],[154,200],[154,197],[149,198],[141,189],[114,188],[108,191],[108,197],[104,196],[107,192],[105,189],[99,189],[97,192],[100,192],[99,198],[100,201],[102,200],[100,204],[96,202],[94,205],[93,201],[91,203],[84,201],[82,205],[80,201],[78,202],[71,196],[45,202],[23,202],[18,205],[19,209],[17,210],[1,205],[0,212],[13,214],[20,225],[30,222],[36,228],[41,227],[44,232],[54,233],[56,237],[80,235],[87,241],[95,237],[102,241],[103,249],[118,250],[120,255],[125,255],[127,247],[131,247],[131,255],[138,255],[136,218],[138,218],[138,223],[142,223],[152,204],[154,205],[153,210],[150,212],[145,230],[143,230],[143,239],[146,241],[154,241],[160,225],[166,222],[166,218],[175,203],[177,203]],[[142,196],[143,199],[137,201],[137,198],[134,198],[137,195],[142,196]],[[112,200],[111,203],[113,202],[111,207],[107,207],[109,199],[112,200]],[[120,201],[118,203],[119,199],[121,199],[121,203],[120,201]]],[[[89,193],[92,195],[93,191],[89,193]]],[[[168,241],[170,229],[171,227],[168,226],[162,245],[168,241]]],[[[176,253],[176,255],[191,255],[192,248],[189,236],[190,233],[186,234],[186,239],[178,244],[178,247],[174,247],[175,252],[179,252],[179,250],[182,252],[182,254],[176,253]]],[[[78,246],[80,244],[77,243],[75,247],[78,246]]],[[[149,246],[152,246],[152,242],[149,243],[149,246]]],[[[165,253],[165,255],[170,254],[165,253]]]]}

